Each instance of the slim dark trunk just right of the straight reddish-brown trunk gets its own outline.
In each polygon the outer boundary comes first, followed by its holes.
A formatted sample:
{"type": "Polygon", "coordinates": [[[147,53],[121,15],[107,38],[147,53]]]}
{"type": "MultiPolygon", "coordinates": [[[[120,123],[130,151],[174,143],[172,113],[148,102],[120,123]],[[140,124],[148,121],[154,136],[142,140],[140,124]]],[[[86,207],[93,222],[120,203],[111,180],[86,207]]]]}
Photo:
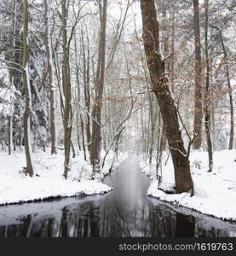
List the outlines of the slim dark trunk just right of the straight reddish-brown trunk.
{"type": "Polygon", "coordinates": [[[204,55],[205,55],[205,88],[204,88],[204,128],[206,132],[207,140],[207,150],[208,150],[208,160],[209,160],[209,172],[212,171],[213,166],[213,153],[212,153],[212,143],[210,138],[210,62],[208,53],[208,9],[209,1],[204,0],[204,55]]]}

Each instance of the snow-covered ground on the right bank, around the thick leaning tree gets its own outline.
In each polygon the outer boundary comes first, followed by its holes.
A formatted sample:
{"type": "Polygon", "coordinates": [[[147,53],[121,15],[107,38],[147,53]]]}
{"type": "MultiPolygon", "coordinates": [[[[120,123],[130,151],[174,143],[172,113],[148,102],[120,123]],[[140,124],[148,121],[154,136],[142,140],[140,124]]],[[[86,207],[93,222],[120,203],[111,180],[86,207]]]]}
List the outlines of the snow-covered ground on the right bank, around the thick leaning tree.
{"type": "Polygon", "coordinates": [[[193,151],[190,154],[194,195],[187,193],[166,194],[174,187],[174,169],[171,158],[163,159],[162,182],[158,184],[155,166],[139,161],[142,172],[152,177],[147,194],[161,201],[187,207],[216,218],[236,221],[236,150],[214,153],[213,172],[208,171],[206,152],[193,151]],[[163,191],[164,190],[164,191],[163,191]]]}

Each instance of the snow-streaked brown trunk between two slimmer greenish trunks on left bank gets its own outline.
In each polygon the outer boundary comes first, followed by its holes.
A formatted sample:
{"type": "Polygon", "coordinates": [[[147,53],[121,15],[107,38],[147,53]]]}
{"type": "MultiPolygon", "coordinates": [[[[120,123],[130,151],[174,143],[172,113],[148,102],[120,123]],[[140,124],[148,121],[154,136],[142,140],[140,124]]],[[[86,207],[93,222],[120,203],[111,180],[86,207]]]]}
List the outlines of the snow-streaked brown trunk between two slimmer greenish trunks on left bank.
{"type": "Polygon", "coordinates": [[[51,154],[56,154],[56,132],[55,132],[55,79],[54,79],[54,66],[52,55],[51,32],[49,29],[49,5],[48,1],[44,0],[45,6],[45,44],[47,50],[48,61],[48,76],[49,76],[49,102],[50,102],[50,134],[51,134],[51,154]]]}

